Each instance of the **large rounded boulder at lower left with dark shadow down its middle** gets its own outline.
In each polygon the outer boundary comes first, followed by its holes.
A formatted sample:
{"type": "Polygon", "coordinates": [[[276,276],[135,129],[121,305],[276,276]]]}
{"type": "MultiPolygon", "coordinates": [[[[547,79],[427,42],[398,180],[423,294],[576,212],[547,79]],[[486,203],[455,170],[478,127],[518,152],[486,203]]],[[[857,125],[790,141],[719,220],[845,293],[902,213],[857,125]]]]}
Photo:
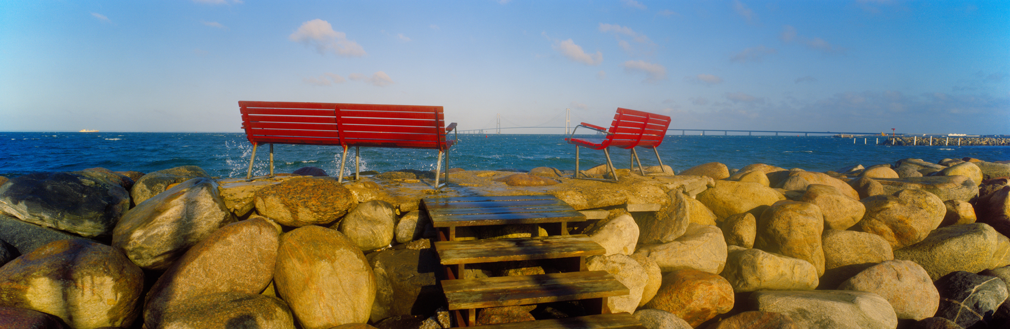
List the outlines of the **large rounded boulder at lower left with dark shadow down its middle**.
{"type": "Polygon", "coordinates": [[[0,305],[47,313],[71,328],[129,327],[142,290],[139,267],[85,240],[49,242],[0,267],[0,305]]]}

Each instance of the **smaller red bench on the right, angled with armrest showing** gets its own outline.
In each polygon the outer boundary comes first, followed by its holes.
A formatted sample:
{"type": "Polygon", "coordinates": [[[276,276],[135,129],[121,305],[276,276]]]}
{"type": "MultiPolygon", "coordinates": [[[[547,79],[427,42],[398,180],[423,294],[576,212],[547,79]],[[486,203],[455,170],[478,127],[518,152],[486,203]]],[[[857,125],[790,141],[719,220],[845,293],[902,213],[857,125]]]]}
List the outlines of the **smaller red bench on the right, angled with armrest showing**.
{"type": "MultiPolygon", "coordinates": [[[[575,144],[575,178],[579,178],[580,146],[603,149],[603,153],[607,155],[607,169],[610,171],[610,175],[613,176],[614,182],[617,182],[617,172],[614,170],[613,162],[610,161],[610,151],[608,150],[610,146],[631,149],[631,159],[629,161],[638,161],[638,171],[642,176],[645,175],[645,171],[642,170],[641,160],[638,159],[638,153],[634,151],[634,148],[651,148],[655,152],[655,158],[660,160],[660,168],[662,169],[663,159],[660,158],[660,151],[655,148],[663,143],[663,137],[667,135],[668,127],[670,127],[669,116],[625,108],[617,108],[617,113],[614,114],[614,121],[610,123],[609,130],[586,122],[579,124],[572,130],[572,134],[568,138],[565,138],[568,143],[575,144]],[[604,138],[576,138],[575,131],[579,127],[590,128],[605,133],[606,136],[604,138]]],[[[633,161],[628,166],[632,170],[634,169],[633,161]]]]}

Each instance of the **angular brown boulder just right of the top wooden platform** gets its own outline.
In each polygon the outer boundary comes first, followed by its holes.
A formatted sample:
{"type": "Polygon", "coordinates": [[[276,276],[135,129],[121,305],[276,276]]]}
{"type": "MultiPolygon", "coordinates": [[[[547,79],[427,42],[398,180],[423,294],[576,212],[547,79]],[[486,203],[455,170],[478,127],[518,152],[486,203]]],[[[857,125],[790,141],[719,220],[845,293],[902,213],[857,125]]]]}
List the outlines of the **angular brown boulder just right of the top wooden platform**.
{"type": "Polygon", "coordinates": [[[691,207],[683,193],[672,190],[667,193],[670,197],[670,204],[664,205],[654,214],[640,216],[635,222],[638,224],[638,243],[667,243],[684,235],[691,223],[691,207]]]}

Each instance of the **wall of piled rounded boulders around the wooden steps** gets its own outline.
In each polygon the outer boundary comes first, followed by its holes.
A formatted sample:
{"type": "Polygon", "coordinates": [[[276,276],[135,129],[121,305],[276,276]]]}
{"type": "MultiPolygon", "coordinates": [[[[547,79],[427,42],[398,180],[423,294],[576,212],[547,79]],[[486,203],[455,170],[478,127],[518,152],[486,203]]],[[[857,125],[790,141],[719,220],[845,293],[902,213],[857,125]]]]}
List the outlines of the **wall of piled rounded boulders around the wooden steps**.
{"type": "MultiPolygon", "coordinates": [[[[1010,327],[1008,161],[838,166],[622,169],[616,183],[451,169],[437,191],[435,173],[413,170],[343,184],[316,168],[250,181],[195,167],[0,178],[0,327],[448,328],[438,234],[419,201],[509,195],[551,195],[585,214],[570,233],[606,249],[589,268],[630,291],[610,309],[649,329],[1010,327]]],[[[550,303],[477,321],[586,312],[550,303]]]]}

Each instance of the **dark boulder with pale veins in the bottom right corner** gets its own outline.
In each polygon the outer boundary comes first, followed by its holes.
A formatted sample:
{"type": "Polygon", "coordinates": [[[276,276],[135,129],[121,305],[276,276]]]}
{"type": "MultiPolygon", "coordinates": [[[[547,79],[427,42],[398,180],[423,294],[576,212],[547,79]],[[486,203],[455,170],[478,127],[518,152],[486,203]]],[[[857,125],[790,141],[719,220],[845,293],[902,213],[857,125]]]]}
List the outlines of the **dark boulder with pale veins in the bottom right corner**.
{"type": "Polygon", "coordinates": [[[1007,299],[1007,285],[996,277],[953,271],[936,281],[940,304],[936,316],[964,328],[986,328],[1007,299]]]}

